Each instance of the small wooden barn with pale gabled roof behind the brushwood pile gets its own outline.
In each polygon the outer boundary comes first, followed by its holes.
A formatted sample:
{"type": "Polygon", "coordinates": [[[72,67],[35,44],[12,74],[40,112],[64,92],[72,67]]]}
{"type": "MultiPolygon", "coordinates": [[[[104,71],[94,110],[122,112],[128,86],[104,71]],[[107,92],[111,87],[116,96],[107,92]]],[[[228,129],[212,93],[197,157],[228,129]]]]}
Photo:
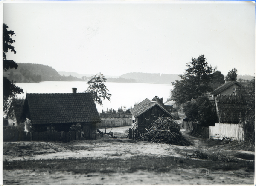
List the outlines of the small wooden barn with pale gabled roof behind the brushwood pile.
{"type": "Polygon", "coordinates": [[[159,99],[157,96],[152,100],[146,98],[134,108],[131,109],[132,122],[136,124],[139,131],[144,132],[145,128],[150,125],[158,117],[171,117],[174,120],[177,118],[172,115],[163,104],[163,98],[159,99]]]}

